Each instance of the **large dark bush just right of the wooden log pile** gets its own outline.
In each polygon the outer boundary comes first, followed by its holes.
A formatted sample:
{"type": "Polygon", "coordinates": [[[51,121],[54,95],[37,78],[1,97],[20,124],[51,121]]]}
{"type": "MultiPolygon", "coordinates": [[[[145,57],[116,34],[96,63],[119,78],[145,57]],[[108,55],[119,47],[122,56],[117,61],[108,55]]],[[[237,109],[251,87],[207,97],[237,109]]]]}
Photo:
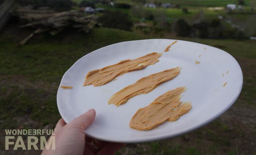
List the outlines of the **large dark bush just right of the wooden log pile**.
{"type": "Polygon", "coordinates": [[[103,27],[117,28],[125,31],[131,31],[133,26],[129,16],[121,11],[105,12],[98,18],[98,22],[103,24],[103,27]]]}

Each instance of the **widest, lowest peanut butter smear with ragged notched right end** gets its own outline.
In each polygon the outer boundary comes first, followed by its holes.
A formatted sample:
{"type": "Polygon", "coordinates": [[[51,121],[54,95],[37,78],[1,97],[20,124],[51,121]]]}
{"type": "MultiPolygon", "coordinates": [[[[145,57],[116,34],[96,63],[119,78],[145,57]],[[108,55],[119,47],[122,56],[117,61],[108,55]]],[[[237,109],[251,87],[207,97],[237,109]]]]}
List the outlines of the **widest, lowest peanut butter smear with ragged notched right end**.
{"type": "Polygon", "coordinates": [[[189,112],[190,102],[182,104],[181,93],[185,87],[170,90],[157,97],[150,105],[140,108],[132,117],[130,127],[136,130],[151,130],[165,121],[176,121],[189,112]]]}

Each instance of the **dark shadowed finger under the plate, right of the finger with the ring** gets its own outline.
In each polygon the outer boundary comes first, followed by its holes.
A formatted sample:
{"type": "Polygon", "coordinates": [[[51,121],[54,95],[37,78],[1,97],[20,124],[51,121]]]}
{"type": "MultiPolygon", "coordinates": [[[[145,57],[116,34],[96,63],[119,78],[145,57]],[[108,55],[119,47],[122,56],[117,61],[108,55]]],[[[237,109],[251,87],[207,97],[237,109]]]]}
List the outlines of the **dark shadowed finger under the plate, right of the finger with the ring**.
{"type": "Polygon", "coordinates": [[[120,148],[124,147],[123,143],[109,143],[97,155],[114,155],[120,148]]]}

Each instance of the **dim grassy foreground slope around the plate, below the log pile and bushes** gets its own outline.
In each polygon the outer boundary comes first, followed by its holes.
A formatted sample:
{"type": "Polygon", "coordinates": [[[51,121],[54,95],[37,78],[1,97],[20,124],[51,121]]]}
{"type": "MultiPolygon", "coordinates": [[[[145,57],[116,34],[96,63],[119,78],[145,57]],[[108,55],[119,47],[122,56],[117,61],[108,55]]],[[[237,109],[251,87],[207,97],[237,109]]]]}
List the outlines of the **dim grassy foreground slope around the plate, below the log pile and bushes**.
{"type": "MultiPolygon", "coordinates": [[[[89,34],[66,32],[59,36],[35,36],[25,46],[18,41],[29,30],[7,26],[0,37],[0,128],[54,128],[61,117],[56,93],[65,71],[80,57],[100,47],[148,36],[109,28],[89,34]],[[3,67],[4,66],[4,67],[3,67]]],[[[256,46],[255,41],[172,38],[223,49],[240,63],[244,86],[236,103],[212,123],[172,139],[128,144],[117,155],[255,155],[256,139],[256,46]]],[[[4,143],[3,132],[0,143],[4,143]]],[[[0,154],[7,155],[4,145],[0,154]]],[[[35,155],[39,151],[10,151],[35,155]]]]}

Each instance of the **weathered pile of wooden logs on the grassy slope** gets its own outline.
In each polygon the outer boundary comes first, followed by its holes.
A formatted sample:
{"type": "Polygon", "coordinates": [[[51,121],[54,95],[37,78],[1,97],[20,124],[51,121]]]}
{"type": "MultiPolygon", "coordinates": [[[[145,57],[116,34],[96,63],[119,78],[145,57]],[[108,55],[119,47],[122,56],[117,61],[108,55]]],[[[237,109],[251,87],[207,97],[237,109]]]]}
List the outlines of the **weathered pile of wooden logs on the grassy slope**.
{"type": "Polygon", "coordinates": [[[78,28],[78,31],[88,33],[97,24],[97,16],[76,10],[54,12],[48,7],[37,9],[18,8],[17,13],[21,19],[28,21],[27,24],[20,26],[20,28],[36,28],[32,34],[20,42],[20,45],[24,45],[35,34],[49,32],[51,35],[56,35],[65,30],[65,28],[78,28]]]}

